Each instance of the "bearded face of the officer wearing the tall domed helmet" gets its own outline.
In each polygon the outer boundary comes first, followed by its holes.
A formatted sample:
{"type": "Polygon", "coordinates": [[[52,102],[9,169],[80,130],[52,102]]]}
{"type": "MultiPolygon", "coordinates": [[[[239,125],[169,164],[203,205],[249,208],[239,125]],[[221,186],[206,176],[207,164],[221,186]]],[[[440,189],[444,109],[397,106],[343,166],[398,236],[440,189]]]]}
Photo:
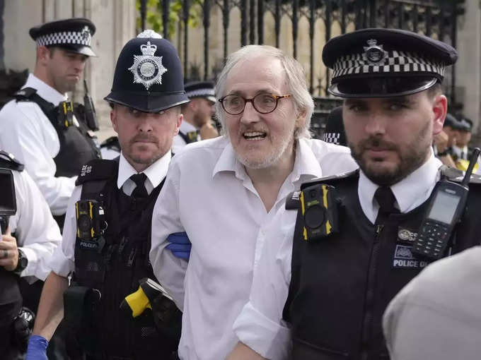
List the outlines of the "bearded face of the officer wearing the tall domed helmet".
{"type": "Polygon", "coordinates": [[[122,154],[140,172],[170,151],[182,114],[178,107],[150,114],[115,104],[110,119],[122,154]]]}

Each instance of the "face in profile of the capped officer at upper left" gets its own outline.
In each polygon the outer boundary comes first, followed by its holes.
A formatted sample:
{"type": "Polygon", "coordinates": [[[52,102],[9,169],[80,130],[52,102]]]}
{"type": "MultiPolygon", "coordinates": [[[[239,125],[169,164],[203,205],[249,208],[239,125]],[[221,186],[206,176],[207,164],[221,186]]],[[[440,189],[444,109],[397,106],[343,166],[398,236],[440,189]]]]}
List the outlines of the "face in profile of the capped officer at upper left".
{"type": "Polygon", "coordinates": [[[74,90],[81,79],[88,56],[59,47],[47,49],[47,52],[47,83],[62,94],[74,90]]]}

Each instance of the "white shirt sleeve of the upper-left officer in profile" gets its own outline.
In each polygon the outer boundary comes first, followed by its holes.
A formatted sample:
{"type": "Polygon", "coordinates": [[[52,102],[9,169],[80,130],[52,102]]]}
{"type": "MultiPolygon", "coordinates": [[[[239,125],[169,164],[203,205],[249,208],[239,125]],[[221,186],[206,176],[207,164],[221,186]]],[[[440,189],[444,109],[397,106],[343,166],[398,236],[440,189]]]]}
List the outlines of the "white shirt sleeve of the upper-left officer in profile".
{"type": "Polygon", "coordinates": [[[45,129],[42,129],[45,121],[41,120],[41,116],[46,119],[36,104],[7,104],[0,115],[0,148],[11,152],[25,164],[52,214],[63,215],[76,177],[55,177],[57,167],[53,157],[58,151],[52,154],[47,148],[46,143],[50,139],[45,137],[45,129]]]}

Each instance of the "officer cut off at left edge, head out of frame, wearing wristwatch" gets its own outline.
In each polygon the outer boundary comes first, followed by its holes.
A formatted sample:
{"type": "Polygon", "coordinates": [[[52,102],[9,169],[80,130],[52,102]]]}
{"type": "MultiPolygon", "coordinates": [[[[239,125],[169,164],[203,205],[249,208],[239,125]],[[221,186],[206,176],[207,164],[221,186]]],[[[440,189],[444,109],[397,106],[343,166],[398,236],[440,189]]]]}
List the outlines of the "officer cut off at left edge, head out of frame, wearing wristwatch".
{"type": "Polygon", "coordinates": [[[22,299],[22,290],[28,284],[41,289],[38,280],[45,280],[50,272],[47,261],[62,236],[23,164],[4,151],[0,151],[0,184],[0,354],[10,360],[25,352],[29,335],[25,320],[30,320],[36,306],[34,296],[22,299]]]}

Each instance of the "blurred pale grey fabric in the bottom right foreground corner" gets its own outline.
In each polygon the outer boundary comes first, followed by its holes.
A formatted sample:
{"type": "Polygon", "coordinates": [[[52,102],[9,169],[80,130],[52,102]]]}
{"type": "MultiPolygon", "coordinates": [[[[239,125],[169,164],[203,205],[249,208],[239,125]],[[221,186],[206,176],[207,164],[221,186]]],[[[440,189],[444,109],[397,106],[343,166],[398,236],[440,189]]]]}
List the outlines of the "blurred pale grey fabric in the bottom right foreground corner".
{"type": "Polygon", "coordinates": [[[481,246],[432,263],[384,313],[391,359],[480,359],[480,304],[481,246]]]}

